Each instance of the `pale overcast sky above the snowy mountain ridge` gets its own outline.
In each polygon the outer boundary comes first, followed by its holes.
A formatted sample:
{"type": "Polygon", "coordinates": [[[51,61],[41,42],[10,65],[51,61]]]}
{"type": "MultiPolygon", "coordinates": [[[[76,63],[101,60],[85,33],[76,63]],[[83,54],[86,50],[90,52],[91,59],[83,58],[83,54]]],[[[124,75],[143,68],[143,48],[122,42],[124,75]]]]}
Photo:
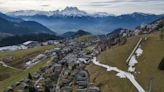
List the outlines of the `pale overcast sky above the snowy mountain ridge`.
{"type": "Polygon", "coordinates": [[[132,12],[164,13],[164,0],[0,0],[1,12],[53,11],[66,6],[78,7],[89,13],[107,12],[115,15],[132,12]]]}

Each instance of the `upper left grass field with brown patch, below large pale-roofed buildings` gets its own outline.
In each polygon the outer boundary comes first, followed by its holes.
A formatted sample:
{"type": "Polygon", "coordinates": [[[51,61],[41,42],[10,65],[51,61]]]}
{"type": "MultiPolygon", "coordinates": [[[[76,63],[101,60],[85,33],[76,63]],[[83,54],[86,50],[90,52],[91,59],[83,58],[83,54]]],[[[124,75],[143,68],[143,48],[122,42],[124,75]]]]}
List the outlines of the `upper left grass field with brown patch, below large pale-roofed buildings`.
{"type": "Polygon", "coordinates": [[[10,66],[22,68],[24,61],[32,56],[35,56],[45,50],[54,48],[54,45],[49,46],[39,46],[34,48],[29,48],[19,51],[9,51],[9,52],[0,52],[0,58],[9,58],[12,57],[11,62],[7,62],[10,66]]]}

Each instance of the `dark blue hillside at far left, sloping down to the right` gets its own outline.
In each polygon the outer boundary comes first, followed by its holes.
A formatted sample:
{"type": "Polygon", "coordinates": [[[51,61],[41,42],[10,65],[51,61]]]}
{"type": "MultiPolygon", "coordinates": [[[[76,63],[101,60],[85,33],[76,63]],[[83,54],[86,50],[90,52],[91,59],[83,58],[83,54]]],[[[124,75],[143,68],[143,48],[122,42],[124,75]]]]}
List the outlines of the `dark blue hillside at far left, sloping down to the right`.
{"type": "MultiPolygon", "coordinates": [[[[4,15],[5,16],[5,15],[4,15]]],[[[17,21],[15,18],[0,16],[0,32],[10,34],[49,33],[54,34],[47,27],[34,21],[17,21]],[[14,21],[15,20],[15,21],[14,21]]]]}

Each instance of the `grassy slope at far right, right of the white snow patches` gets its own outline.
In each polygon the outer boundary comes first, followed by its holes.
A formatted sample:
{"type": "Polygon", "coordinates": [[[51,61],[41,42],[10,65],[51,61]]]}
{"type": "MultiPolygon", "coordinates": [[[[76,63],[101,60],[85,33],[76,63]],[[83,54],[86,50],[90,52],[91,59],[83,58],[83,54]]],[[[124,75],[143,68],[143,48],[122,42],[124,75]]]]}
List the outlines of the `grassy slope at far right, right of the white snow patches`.
{"type": "Polygon", "coordinates": [[[164,41],[159,39],[159,33],[149,35],[149,39],[143,43],[144,53],[139,58],[136,68],[141,74],[137,80],[148,89],[151,78],[153,78],[152,92],[164,92],[164,71],[158,70],[158,65],[164,57],[164,41]]]}

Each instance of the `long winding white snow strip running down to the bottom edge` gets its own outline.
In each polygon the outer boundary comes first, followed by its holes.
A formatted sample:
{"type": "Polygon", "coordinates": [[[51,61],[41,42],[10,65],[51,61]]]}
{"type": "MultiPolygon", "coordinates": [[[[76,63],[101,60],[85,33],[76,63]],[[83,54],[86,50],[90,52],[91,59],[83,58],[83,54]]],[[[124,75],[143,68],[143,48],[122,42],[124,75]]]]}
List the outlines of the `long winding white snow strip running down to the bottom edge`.
{"type": "Polygon", "coordinates": [[[137,88],[137,90],[139,92],[145,92],[145,90],[141,87],[141,85],[135,80],[134,76],[129,73],[129,72],[125,72],[125,71],[122,71],[120,69],[118,69],[117,67],[111,67],[111,66],[108,66],[108,65],[105,65],[105,64],[101,64],[99,63],[97,60],[96,60],[96,57],[93,58],[93,61],[92,61],[95,65],[97,66],[101,66],[101,67],[104,67],[107,69],[107,71],[115,71],[115,72],[118,72],[119,74],[117,75],[121,75],[122,77],[126,77],[128,78],[131,83],[137,88]]]}

